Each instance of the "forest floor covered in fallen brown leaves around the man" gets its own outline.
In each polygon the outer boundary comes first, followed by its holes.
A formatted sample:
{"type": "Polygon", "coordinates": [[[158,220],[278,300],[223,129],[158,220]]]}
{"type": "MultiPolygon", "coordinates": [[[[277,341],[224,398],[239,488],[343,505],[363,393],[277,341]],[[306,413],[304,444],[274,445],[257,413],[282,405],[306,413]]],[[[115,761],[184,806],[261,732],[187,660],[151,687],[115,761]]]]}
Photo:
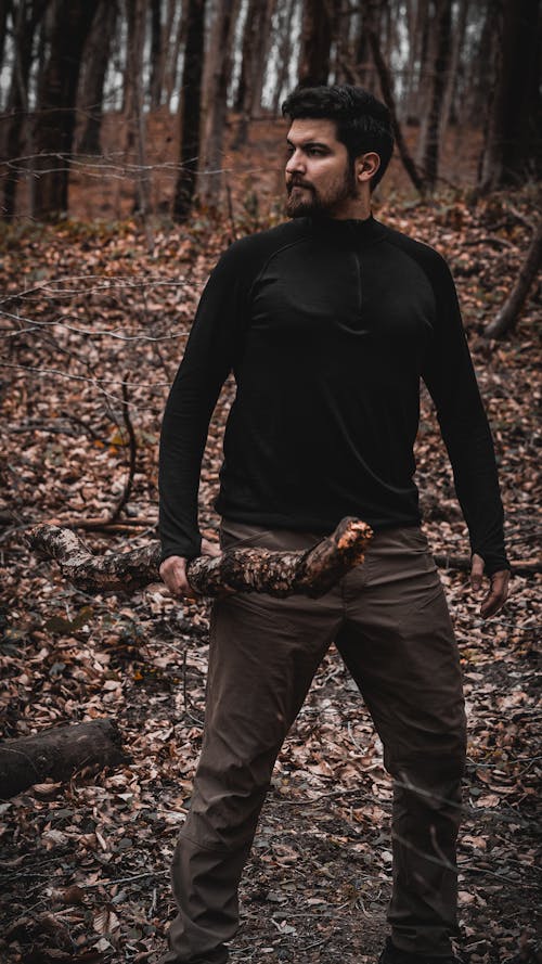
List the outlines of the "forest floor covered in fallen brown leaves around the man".
{"type": "MultiPolygon", "coordinates": [[[[438,247],[451,265],[492,423],[513,562],[535,553],[537,292],[509,339],[481,337],[517,277],[532,190],[469,207],[395,196],[376,216],[438,247]]],[[[238,211],[240,208],[236,208],[238,211]]],[[[0,960],[154,962],[173,905],[175,840],[190,806],[202,741],[208,606],[181,606],[157,586],[132,597],[88,596],[33,556],[38,522],[108,518],[136,474],[117,528],[86,531],[95,552],[155,538],[157,439],[167,389],[202,285],[232,234],[263,227],[254,205],[220,224],[205,215],[22,223],[0,237],[5,430],[0,442],[2,734],[98,717],[118,721],[130,761],[80,772],[0,805],[0,960]],[[225,227],[224,227],[225,224],[225,227]],[[119,525],[120,524],[120,525],[119,525]]],[[[201,512],[214,538],[229,383],[212,419],[201,512]]],[[[465,555],[438,427],[423,397],[416,446],[425,530],[435,552],[465,555]]],[[[537,950],[537,577],[515,576],[490,622],[466,574],[441,570],[461,648],[469,743],[460,843],[465,964],[534,964],[537,950]]],[[[232,961],[365,964],[385,935],[391,884],[390,780],[367,711],[332,648],[275,767],[242,886],[232,961]]]]}

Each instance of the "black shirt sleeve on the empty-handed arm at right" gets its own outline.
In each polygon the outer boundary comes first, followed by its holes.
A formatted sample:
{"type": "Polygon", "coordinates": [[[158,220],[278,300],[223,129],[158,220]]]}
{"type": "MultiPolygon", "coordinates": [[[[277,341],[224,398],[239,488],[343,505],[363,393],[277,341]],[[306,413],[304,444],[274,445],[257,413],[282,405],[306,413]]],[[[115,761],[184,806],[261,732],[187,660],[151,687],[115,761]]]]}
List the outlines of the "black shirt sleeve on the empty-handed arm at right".
{"type": "Polygon", "coordinates": [[[491,575],[509,568],[493,439],[463,329],[455,285],[447,264],[437,257],[435,333],[423,377],[437,408],[455,491],[469,532],[470,550],[483,558],[486,571],[491,575]]]}

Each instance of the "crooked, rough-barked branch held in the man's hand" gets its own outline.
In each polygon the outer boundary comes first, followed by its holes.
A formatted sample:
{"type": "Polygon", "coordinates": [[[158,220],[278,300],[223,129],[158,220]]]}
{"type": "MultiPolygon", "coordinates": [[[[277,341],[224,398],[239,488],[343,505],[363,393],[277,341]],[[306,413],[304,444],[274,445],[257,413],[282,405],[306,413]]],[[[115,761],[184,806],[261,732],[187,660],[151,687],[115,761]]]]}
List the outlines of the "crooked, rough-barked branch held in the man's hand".
{"type": "MultiPolygon", "coordinates": [[[[186,567],[188,577],[199,595],[267,592],[279,597],[302,593],[317,599],[363,562],[372,536],[366,523],[344,518],[331,536],[311,549],[228,549],[216,557],[202,555],[192,560],[186,567]]],[[[47,524],[30,529],[26,539],[41,556],[54,558],[69,582],[88,593],[133,592],[160,578],[158,542],[96,556],[70,529],[47,524]]]]}

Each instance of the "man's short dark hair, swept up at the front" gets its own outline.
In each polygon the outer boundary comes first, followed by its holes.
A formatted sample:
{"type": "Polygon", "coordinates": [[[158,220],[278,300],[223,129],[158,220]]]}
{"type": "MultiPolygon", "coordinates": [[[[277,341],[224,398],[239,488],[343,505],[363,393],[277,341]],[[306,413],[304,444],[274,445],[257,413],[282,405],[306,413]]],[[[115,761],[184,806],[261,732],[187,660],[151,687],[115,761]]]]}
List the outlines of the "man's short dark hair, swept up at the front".
{"type": "Polygon", "coordinates": [[[351,164],[369,151],[378,154],[380,166],[371,180],[371,190],[376,188],[393,151],[390,114],[382,101],[350,83],[297,87],[284,101],[282,113],[291,120],[306,117],[334,120],[337,139],[345,144],[351,164]]]}

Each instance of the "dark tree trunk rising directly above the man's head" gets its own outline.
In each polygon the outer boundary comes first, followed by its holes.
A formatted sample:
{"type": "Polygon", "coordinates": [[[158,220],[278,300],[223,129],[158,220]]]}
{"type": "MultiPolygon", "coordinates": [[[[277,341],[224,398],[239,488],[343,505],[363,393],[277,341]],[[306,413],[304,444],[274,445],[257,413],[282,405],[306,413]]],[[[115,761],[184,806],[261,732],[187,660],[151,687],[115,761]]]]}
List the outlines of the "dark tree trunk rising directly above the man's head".
{"type": "Polygon", "coordinates": [[[335,0],[304,0],[299,83],[327,83],[335,33],[335,0]]]}

